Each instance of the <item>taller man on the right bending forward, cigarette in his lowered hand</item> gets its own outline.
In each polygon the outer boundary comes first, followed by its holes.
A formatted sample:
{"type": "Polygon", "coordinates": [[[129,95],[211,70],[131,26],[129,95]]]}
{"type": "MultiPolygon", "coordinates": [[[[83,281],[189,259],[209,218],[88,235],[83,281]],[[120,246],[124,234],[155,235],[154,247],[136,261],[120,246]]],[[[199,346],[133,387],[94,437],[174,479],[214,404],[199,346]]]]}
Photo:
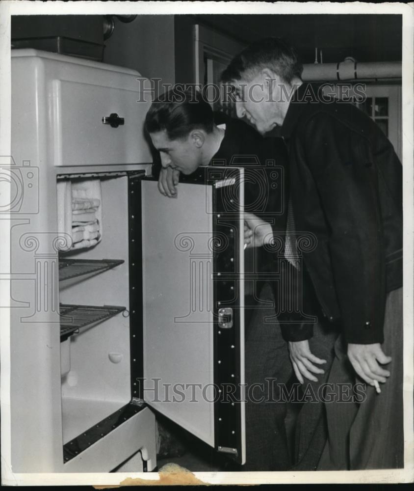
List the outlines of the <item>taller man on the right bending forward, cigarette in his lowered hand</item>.
{"type": "MultiPolygon", "coordinates": [[[[339,384],[368,384],[361,404],[326,404],[329,438],[319,468],[402,467],[402,166],[369,117],[320,100],[301,70],[291,46],[268,38],[236,56],[222,80],[235,89],[238,117],[261,134],[280,127],[285,139],[285,250],[292,230],[314,234],[303,273],[326,319],[341,329],[328,382],[336,392],[339,384]]],[[[250,218],[252,242],[268,241],[270,225],[250,218]]],[[[296,340],[289,348],[297,378],[312,380],[320,364],[312,329],[286,332],[296,340]]]]}

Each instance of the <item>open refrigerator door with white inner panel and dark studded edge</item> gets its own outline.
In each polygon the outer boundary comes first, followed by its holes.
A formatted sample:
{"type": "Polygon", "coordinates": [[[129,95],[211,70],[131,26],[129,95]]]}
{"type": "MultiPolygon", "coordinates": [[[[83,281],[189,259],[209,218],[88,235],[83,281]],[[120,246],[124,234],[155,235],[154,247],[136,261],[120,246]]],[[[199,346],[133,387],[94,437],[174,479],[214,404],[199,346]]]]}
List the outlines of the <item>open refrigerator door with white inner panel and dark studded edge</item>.
{"type": "Polygon", "coordinates": [[[245,461],[242,169],[143,180],[143,399],[245,461]]]}

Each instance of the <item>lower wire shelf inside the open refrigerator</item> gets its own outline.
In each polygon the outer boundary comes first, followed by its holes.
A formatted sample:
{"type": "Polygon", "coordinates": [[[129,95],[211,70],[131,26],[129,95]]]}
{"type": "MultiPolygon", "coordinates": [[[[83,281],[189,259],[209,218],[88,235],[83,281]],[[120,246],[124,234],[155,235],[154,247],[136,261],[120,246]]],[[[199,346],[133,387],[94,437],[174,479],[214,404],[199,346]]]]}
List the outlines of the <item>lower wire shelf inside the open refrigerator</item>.
{"type": "Polygon", "coordinates": [[[65,341],[80,327],[105,321],[126,310],[126,307],[114,305],[70,305],[60,304],[60,341],[65,341]]]}

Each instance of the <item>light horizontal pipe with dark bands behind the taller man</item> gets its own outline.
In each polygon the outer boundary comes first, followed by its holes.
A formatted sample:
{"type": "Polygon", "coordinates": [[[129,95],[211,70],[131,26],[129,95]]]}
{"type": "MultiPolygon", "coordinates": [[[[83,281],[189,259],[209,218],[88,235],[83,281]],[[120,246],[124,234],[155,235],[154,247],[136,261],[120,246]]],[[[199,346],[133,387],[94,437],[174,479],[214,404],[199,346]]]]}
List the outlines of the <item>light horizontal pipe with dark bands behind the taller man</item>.
{"type": "Polygon", "coordinates": [[[303,65],[302,80],[340,81],[367,79],[401,79],[401,61],[358,62],[345,60],[339,63],[307,63],[303,65]]]}

